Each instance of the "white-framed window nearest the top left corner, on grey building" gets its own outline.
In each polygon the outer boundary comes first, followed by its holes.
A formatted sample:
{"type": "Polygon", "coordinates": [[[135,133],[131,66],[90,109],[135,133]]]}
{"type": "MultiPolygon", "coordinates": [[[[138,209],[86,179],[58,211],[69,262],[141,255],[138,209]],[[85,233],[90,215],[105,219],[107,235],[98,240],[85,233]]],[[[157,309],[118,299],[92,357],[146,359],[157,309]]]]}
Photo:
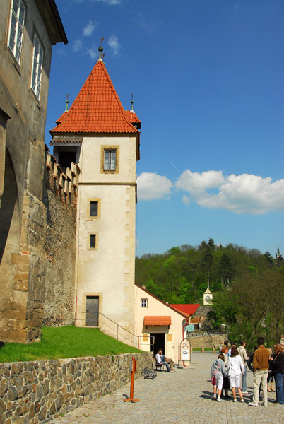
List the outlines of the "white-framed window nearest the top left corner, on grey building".
{"type": "Polygon", "coordinates": [[[13,53],[18,65],[23,47],[23,30],[25,26],[25,4],[22,0],[13,0],[8,33],[8,47],[13,53]]]}

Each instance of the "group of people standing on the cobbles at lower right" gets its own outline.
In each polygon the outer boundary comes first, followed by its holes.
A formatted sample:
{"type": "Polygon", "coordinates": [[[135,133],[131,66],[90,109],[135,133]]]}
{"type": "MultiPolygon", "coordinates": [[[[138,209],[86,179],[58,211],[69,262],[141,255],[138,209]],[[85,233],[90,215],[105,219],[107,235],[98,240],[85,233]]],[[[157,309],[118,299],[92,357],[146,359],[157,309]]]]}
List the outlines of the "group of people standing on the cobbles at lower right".
{"type": "Polygon", "coordinates": [[[244,402],[243,394],[247,394],[247,367],[254,372],[254,395],[249,406],[259,405],[259,391],[262,387],[264,406],[268,404],[267,391],[273,391],[269,384],[276,382],[276,402],[284,404],[284,353],[283,346],[274,346],[275,353],[265,348],[264,338],[257,339],[257,346],[252,355],[247,355],[246,342],[241,341],[237,348],[235,344],[229,348],[227,340],[220,347],[218,358],[211,367],[211,379],[213,384],[213,397],[222,401],[222,397],[230,398],[228,389],[232,388],[233,401],[237,401],[237,392],[241,402],[244,402]],[[241,389],[242,379],[242,389],[241,389]],[[272,380],[272,381],[271,381],[272,380]],[[236,392],[237,390],[237,392],[236,392]],[[225,394],[223,393],[225,392],[225,394]]]}

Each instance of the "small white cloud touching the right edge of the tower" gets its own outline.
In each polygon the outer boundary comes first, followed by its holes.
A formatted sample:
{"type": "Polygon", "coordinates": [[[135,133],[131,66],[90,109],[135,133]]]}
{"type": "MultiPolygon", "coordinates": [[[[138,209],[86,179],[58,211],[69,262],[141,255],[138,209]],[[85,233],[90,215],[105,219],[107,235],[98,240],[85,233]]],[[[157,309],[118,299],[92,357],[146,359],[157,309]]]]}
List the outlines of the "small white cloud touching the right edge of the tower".
{"type": "Polygon", "coordinates": [[[171,194],[172,182],[153,172],[143,172],[137,178],[137,193],[139,200],[162,199],[171,194]]]}

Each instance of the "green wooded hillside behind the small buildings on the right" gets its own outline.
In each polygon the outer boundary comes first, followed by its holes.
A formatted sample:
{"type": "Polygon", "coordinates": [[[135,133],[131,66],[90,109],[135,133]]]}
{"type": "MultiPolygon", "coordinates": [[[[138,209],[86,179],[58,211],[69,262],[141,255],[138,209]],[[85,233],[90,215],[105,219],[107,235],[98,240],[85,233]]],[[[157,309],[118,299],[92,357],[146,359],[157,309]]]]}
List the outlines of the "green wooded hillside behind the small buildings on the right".
{"type": "Polygon", "coordinates": [[[164,302],[201,303],[213,293],[206,326],[226,324],[232,341],[250,347],[261,334],[271,346],[284,333],[284,260],[238,245],[172,247],[164,254],[136,257],[136,283],[164,302]]]}

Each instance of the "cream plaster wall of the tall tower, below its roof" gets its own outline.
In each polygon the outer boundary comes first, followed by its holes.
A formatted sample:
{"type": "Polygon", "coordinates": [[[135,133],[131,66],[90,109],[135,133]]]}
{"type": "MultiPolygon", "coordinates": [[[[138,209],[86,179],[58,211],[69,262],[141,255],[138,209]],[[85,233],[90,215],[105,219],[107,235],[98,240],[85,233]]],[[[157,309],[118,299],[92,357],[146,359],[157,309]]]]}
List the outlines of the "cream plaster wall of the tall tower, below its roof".
{"type": "Polygon", "coordinates": [[[100,312],[134,334],[136,139],[84,137],[78,165],[77,325],[85,326],[86,296],[99,295],[100,312]],[[101,146],[114,145],[119,172],[102,173],[101,146]],[[100,202],[98,218],[88,214],[90,199],[100,202]],[[89,247],[90,233],[96,249],[89,247]]]}

